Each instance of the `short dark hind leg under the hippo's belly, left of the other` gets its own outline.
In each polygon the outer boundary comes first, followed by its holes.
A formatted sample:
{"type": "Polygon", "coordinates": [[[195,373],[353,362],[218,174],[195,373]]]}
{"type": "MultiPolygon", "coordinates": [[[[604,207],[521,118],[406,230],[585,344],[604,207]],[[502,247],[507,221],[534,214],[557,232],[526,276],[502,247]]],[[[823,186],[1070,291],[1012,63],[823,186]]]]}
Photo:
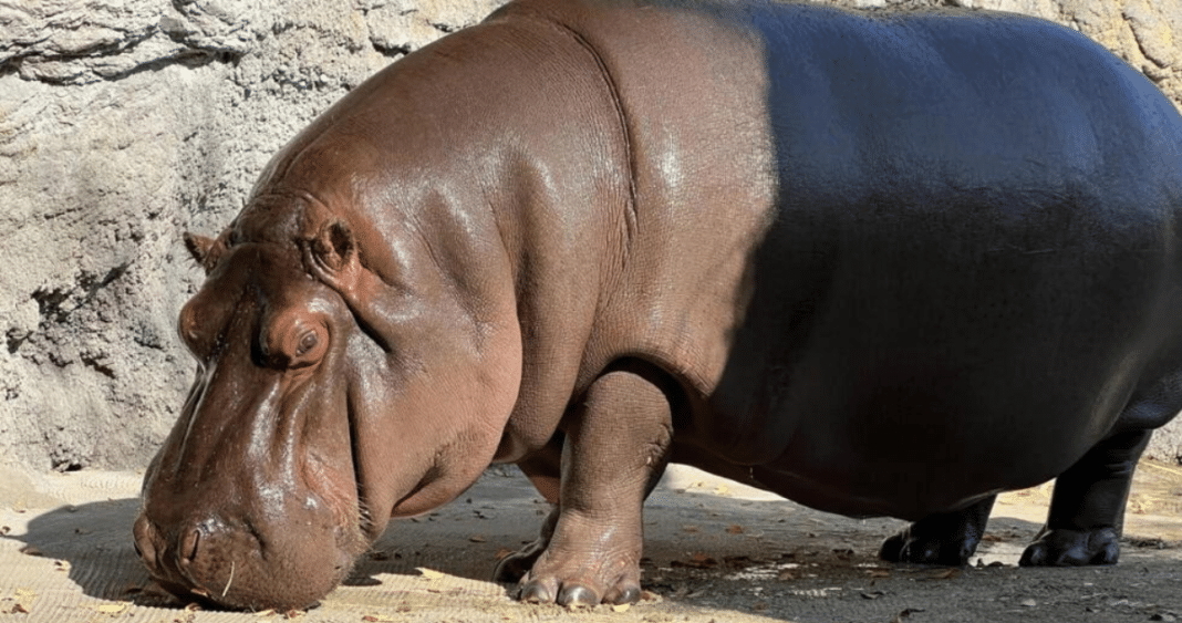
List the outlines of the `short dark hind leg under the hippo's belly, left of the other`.
{"type": "Polygon", "coordinates": [[[996,495],[950,513],[928,515],[889,537],[878,557],[891,563],[965,566],[985,536],[996,495]]]}

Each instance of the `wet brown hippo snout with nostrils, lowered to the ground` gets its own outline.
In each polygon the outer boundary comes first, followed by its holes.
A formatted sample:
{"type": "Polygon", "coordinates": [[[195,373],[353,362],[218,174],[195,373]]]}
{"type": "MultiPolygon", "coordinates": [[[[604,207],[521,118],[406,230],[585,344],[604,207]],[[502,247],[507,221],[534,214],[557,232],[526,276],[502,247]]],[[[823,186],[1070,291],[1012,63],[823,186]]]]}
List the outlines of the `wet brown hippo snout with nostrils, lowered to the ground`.
{"type": "Polygon", "coordinates": [[[147,513],[134,527],[136,551],[163,589],[187,603],[249,610],[309,608],[349,573],[352,556],[333,531],[293,532],[266,539],[216,517],[164,527],[147,513]]]}

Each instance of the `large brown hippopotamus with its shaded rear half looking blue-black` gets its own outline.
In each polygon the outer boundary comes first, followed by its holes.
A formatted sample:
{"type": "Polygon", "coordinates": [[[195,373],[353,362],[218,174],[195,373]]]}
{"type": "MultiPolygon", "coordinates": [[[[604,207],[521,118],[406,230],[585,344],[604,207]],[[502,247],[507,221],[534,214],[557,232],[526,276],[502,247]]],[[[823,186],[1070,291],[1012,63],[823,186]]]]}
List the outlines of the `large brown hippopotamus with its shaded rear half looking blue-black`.
{"type": "Polygon", "coordinates": [[[635,602],[670,461],[910,521],[962,565],[1117,562],[1182,409],[1182,118],[1082,34],[985,11],[518,0],[299,132],[180,311],[197,361],[134,533],[160,584],[303,608],[392,518],[515,463],[495,570],[635,602]]]}

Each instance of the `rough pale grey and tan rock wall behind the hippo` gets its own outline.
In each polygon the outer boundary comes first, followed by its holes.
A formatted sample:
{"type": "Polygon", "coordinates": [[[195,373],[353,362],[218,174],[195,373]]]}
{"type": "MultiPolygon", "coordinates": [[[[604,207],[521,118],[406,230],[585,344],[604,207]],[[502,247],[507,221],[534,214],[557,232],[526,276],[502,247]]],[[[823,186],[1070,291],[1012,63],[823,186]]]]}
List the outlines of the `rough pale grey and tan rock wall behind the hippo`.
{"type": "MultiPolygon", "coordinates": [[[[0,4],[0,460],[144,466],[191,379],[181,232],[220,231],[319,111],[501,2],[0,4]]],[[[907,4],[1069,24],[1182,102],[1182,0],[907,4]]],[[[1155,454],[1182,456],[1182,422],[1165,433],[1155,454]]]]}

